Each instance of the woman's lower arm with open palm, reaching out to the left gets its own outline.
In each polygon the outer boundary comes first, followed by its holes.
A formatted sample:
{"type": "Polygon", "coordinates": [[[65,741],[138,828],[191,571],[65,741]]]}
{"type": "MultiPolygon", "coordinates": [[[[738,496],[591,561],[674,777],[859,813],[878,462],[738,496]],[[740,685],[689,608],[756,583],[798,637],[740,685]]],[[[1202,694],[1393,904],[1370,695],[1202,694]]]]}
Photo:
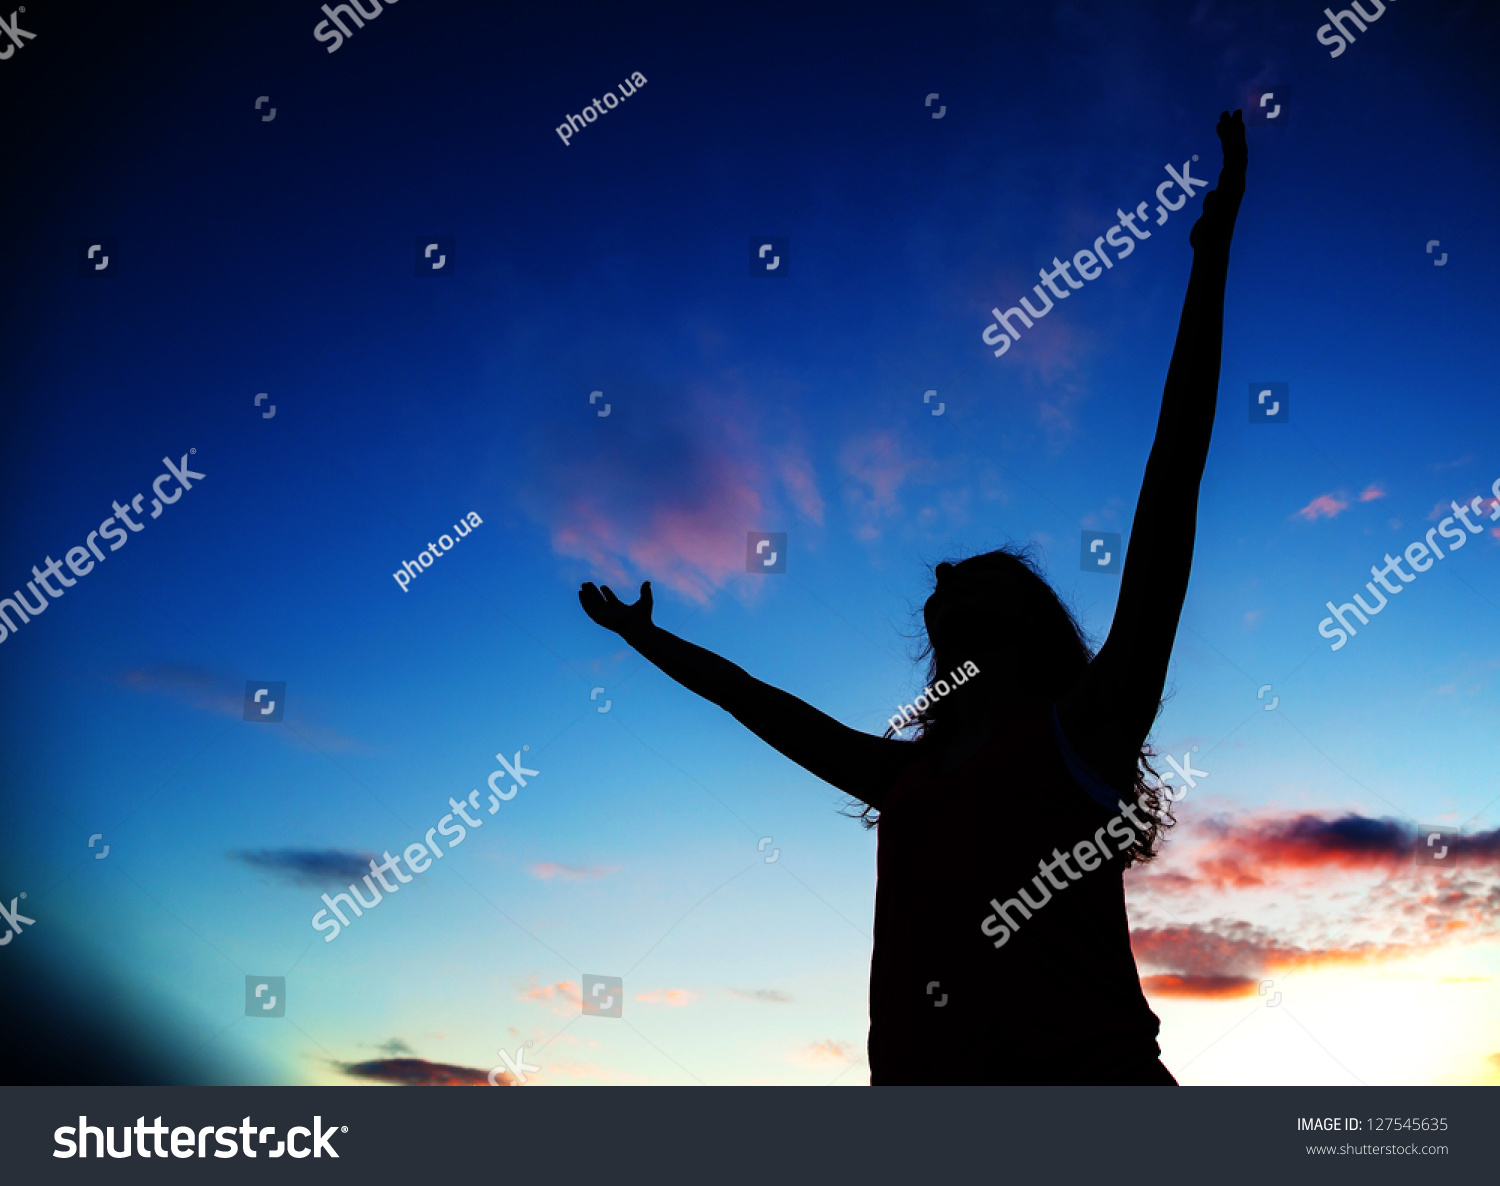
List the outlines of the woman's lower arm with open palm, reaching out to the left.
{"type": "Polygon", "coordinates": [[[711,700],[760,741],[846,795],[879,808],[886,787],[914,757],[908,742],[861,733],[804,700],[772,688],[726,658],[694,646],[651,621],[651,582],[624,604],[606,585],[578,594],[584,612],[614,630],[688,691],[711,700]]]}

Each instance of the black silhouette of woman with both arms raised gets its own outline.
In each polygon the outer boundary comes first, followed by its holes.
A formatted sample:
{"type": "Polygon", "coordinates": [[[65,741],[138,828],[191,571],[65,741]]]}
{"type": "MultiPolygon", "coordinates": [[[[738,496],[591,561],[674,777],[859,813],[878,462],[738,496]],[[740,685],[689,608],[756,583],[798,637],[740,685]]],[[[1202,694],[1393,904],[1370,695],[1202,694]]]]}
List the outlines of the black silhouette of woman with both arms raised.
{"type": "MultiPolygon", "coordinates": [[[[1192,271],[1114,621],[1089,654],[1023,552],[936,568],[928,700],[910,741],[861,733],[585,583],[584,610],[786,757],[879,813],[872,1084],[1174,1084],[1140,990],[1122,873],[1172,823],[1146,736],[1188,588],[1218,391],[1240,112],[1192,226],[1192,271]],[[946,682],[946,681],[945,681],[946,682]],[[1074,862],[1077,868],[1074,868],[1074,862]],[[1040,870],[1040,873],[1038,873],[1040,870]]],[[[904,727],[904,726],[903,726],[904,727]]],[[[1170,796],[1167,796],[1170,798],[1170,796]]]]}

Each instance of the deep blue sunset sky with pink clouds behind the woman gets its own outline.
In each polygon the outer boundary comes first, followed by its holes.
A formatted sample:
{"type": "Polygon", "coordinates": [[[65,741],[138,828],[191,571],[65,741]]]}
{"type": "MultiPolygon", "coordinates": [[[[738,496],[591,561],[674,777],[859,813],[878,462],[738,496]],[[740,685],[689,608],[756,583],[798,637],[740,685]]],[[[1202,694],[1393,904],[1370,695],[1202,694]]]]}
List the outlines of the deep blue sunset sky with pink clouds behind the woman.
{"type": "Polygon", "coordinates": [[[314,16],[39,10],[0,64],[0,586],[164,457],[207,474],[0,643],[0,894],[38,919],[4,960],[106,969],[214,1081],[483,1071],[524,1039],[544,1084],[867,1081],[873,834],[574,591],[650,579],[662,625],[872,732],[920,687],[945,556],[1035,543],[1102,640],[1118,579],[1078,534],[1128,543],[1202,198],[1004,358],[980,334],[1167,163],[1214,178],[1218,112],[1275,85],[1155,733],[1210,777],[1128,882],[1137,960],[1178,978],[1148,993],[1185,1083],[1500,1075],[1496,846],[1418,876],[1332,828],[1492,840],[1500,537],[1341,651],[1317,634],[1500,478],[1492,15],[1389,6],[1338,58],[1293,4],[402,3],[336,54],[314,16]],[[786,277],[747,274],[762,234],[786,277]],[[81,279],[99,235],[118,274],[81,279]],[[414,274],[426,235],[452,276],[414,274]],[[1248,423],[1262,381],[1290,424],[1248,423]],[[784,576],[744,571],[760,529],[784,576]],[[285,681],[282,724],[240,720],[248,679],[285,681]],[[236,856],[398,852],[522,745],[540,777],[333,943],[336,885],[236,856]],[[578,1017],[585,973],[624,975],[624,1018],[578,1017]],[[243,1015],[246,975],[286,976],[290,1024],[243,1015]],[[1240,987],[1191,991],[1214,976],[1240,987]]]}

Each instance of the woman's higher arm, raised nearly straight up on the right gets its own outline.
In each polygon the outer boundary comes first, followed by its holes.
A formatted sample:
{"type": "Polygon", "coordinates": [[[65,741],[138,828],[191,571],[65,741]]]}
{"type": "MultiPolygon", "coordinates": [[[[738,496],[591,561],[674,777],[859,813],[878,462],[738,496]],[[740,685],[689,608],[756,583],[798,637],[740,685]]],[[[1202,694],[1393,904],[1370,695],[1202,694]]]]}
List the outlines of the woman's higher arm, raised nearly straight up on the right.
{"type": "Polygon", "coordinates": [[[1161,703],[1188,592],[1198,481],[1214,430],[1228,246],[1248,160],[1240,112],[1220,115],[1218,136],[1224,168],[1218,187],[1203,195],[1203,214],[1188,235],[1192,273],[1136,504],[1114,622],[1088,672],[1058,705],[1072,747],[1116,786],[1130,784],[1161,703]]]}

